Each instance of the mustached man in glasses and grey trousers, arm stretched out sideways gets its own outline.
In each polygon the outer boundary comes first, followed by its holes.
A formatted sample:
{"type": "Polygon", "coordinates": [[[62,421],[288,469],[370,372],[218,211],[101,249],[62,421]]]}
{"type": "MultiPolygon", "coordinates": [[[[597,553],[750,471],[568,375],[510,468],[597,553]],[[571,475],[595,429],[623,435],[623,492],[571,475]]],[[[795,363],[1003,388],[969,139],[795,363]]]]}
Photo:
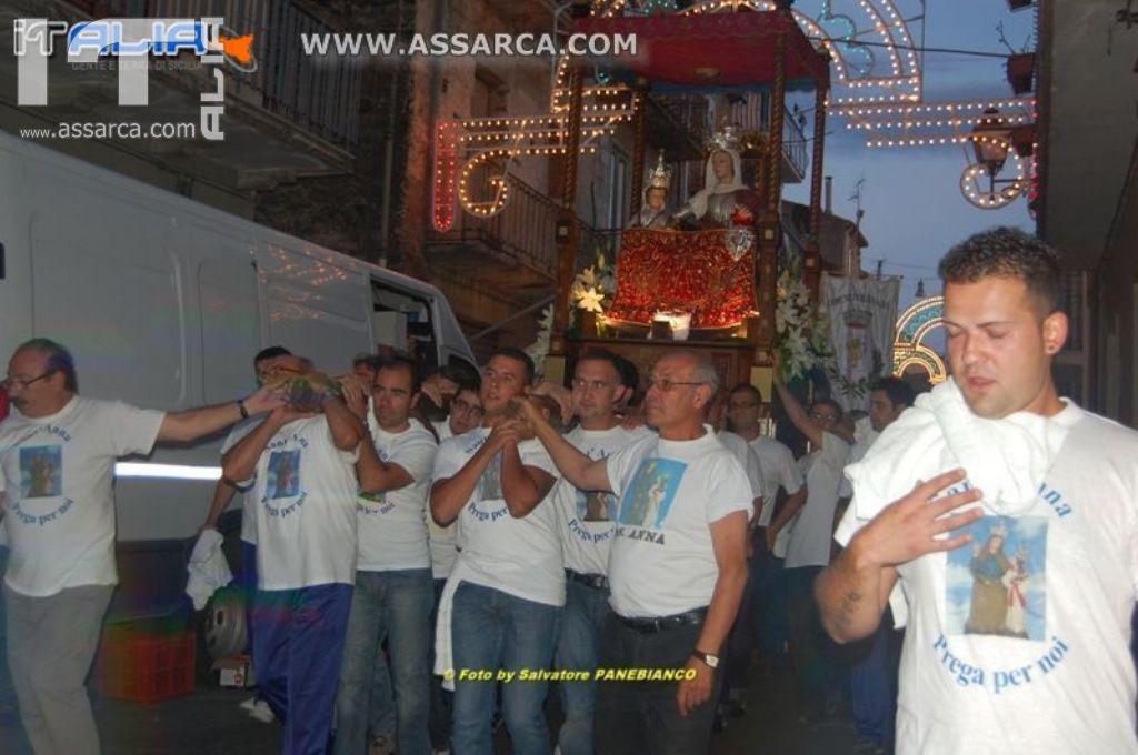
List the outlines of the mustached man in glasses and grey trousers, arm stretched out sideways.
{"type": "Polygon", "coordinates": [[[83,680],[118,582],[114,465],[156,441],[190,442],[280,406],[241,401],[165,413],[79,396],[75,363],[48,339],[20,345],[3,388],[0,498],[11,548],[5,576],[8,658],[24,730],[38,753],[98,753],[83,680]]]}

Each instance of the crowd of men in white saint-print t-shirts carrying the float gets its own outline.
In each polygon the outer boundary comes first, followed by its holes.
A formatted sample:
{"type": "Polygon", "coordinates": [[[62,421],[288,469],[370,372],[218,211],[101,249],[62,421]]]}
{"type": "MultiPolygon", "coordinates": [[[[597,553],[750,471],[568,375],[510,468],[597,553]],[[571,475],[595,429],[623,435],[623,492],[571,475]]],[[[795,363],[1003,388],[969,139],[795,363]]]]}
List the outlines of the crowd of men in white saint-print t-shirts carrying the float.
{"type": "Polygon", "coordinates": [[[1052,250],[997,230],[941,274],[954,379],[931,393],[885,378],[857,417],[776,364],[799,459],[698,350],[643,376],[587,351],[562,389],[513,348],[329,380],[272,347],[248,398],[164,413],[81,397],[66,348],[22,345],[0,491],[33,748],[99,752],[114,461],[233,425],[205,529],[244,492],[251,707],[287,753],[486,755],[498,721],[522,755],[706,753],[756,654],[793,670],[803,722],[848,707],[857,752],[1138,753],[1138,434],[1055,391],[1052,250]]]}

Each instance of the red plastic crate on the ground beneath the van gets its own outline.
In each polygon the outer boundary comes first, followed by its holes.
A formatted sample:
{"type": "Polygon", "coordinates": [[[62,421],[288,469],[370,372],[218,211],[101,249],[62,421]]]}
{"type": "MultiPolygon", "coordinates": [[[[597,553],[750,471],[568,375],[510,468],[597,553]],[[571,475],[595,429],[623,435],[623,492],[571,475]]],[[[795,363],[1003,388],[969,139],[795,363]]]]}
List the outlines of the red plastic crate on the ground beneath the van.
{"type": "Polygon", "coordinates": [[[190,695],[196,652],[188,630],[158,634],[108,627],[96,663],[99,694],[147,704],[190,695]]]}

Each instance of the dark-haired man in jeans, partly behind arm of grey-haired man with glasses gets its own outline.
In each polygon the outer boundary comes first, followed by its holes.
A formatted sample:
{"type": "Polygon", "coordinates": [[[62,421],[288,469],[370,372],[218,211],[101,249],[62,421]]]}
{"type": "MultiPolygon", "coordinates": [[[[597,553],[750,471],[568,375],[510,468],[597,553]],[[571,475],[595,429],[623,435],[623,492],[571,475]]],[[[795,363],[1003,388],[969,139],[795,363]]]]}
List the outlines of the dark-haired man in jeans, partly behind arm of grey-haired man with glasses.
{"type": "MultiPolygon", "coordinates": [[[[643,428],[625,429],[616,415],[617,406],[638,382],[632,378],[633,384],[626,385],[628,378],[620,357],[603,349],[586,352],[574,367],[572,410],[579,424],[566,433],[566,440],[591,459],[604,458],[650,433],[643,428]]],[[[609,547],[617,500],[609,492],[579,490],[564,479],[551,497],[558,508],[567,579],[555,665],[593,672],[600,665],[601,632],[609,609],[609,547]]],[[[558,733],[561,755],[592,755],[596,681],[562,681],[560,689],[566,714],[558,733]]]]}

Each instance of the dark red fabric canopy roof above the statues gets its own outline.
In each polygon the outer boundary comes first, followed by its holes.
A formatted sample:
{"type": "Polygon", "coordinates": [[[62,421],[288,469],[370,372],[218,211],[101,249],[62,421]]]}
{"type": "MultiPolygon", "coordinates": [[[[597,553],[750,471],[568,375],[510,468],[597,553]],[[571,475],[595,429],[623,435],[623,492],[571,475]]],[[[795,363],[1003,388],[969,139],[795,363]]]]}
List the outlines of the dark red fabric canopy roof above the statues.
{"type": "Polygon", "coordinates": [[[830,81],[830,58],[814,49],[793,17],[778,11],[589,17],[582,34],[635,34],[636,55],[596,57],[597,65],[678,86],[760,86],[775,81],[775,40],[786,36],[786,81],[830,81]]]}

